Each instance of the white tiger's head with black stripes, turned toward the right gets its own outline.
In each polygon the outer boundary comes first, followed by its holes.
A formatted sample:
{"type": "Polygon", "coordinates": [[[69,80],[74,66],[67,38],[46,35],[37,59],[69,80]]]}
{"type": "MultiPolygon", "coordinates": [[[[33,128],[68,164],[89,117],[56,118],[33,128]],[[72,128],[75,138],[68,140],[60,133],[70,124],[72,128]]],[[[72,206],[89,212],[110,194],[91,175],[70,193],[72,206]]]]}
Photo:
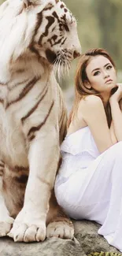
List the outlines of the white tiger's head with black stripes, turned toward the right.
{"type": "Polygon", "coordinates": [[[68,69],[81,54],[76,19],[60,0],[8,0],[0,18],[0,49],[11,61],[28,53],[68,69]]]}

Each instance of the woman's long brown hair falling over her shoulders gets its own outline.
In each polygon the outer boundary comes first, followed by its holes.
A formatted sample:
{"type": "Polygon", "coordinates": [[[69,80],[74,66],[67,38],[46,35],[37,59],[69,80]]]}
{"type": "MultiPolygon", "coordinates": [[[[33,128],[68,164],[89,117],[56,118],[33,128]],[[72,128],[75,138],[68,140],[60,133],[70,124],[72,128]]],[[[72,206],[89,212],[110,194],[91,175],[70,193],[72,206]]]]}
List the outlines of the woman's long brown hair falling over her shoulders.
{"type": "MultiPolygon", "coordinates": [[[[88,50],[86,52],[86,54],[81,55],[78,67],[76,69],[75,99],[74,99],[74,102],[73,102],[72,111],[71,111],[71,113],[69,114],[69,117],[68,117],[68,127],[69,127],[70,123],[76,117],[79,102],[82,98],[86,97],[87,95],[97,95],[100,98],[102,98],[102,96],[98,93],[98,91],[94,90],[93,88],[88,89],[85,86],[85,83],[88,82],[87,72],[86,72],[87,65],[91,61],[91,58],[94,58],[97,55],[102,55],[105,58],[108,58],[109,61],[112,63],[114,69],[116,69],[116,66],[114,64],[113,59],[102,48],[96,48],[96,49],[94,48],[94,49],[88,50]]],[[[111,116],[111,110],[110,110],[109,102],[108,102],[107,106],[105,107],[105,114],[106,114],[106,117],[107,117],[108,125],[110,127],[110,124],[111,124],[111,121],[112,121],[112,116],[111,116]]]]}

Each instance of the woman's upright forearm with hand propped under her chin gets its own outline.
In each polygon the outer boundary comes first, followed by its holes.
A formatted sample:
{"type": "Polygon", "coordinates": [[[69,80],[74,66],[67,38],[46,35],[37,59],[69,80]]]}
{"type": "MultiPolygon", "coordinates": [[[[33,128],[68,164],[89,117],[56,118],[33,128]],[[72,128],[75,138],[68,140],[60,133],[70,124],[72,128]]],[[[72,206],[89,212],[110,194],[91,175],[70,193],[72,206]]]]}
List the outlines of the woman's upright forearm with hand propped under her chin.
{"type": "Polygon", "coordinates": [[[118,85],[117,91],[109,98],[113,127],[117,141],[122,141],[122,113],[119,105],[120,98],[122,98],[122,84],[118,85]]]}

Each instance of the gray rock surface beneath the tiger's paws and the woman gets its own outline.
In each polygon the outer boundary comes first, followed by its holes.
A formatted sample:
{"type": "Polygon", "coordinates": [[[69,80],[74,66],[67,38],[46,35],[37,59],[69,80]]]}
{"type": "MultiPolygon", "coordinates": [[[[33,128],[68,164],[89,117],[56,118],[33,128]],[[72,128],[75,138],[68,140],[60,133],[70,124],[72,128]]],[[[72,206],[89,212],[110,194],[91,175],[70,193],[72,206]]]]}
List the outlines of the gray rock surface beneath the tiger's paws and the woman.
{"type": "Polygon", "coordinates": [[[14,243],[0,239],[0,256],[86,256],[91,251],[119,252],[98,235],[99,225],[92,221],[74,221],[75,239],[51,238],[43,243],[14,243]]]}

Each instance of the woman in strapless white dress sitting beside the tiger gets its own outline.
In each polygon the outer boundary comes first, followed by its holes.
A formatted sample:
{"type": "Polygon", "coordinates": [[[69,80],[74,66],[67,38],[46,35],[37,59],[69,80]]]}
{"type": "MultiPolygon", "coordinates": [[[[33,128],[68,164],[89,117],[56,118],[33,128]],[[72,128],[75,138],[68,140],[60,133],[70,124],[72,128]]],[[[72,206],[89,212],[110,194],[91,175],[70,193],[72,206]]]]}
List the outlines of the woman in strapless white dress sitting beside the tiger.
{"type": "Polygon", "coordinates": [[[102,49],[83,54],[76,98],[61,144],[57,202],[76,220],[102,224],[98,234],[122,251],[122,85],[102,49]]]}

